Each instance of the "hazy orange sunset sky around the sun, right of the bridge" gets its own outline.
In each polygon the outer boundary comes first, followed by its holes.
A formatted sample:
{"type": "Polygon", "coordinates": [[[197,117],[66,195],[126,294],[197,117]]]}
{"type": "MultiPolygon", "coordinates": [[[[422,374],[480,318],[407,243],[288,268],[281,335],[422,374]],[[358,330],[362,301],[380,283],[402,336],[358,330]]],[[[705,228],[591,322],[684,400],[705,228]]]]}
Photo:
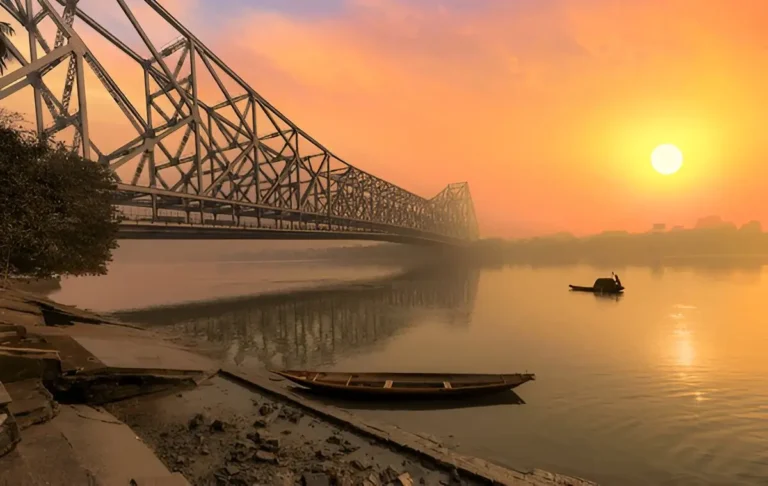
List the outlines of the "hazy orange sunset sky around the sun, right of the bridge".
{"type": "Polygon", "coordinates": [[[162,3],[346,161],[429,197],[468,181],[485,235],[768,210],[765,0],[162,3]]]}

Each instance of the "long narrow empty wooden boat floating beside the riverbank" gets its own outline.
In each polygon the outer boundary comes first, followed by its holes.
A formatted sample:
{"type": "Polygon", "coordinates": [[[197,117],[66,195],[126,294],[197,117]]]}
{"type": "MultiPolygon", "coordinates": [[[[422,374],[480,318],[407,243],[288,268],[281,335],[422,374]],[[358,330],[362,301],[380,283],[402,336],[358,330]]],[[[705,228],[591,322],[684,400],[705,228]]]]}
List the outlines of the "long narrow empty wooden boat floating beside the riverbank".
{"type": "Polygon", "coordinates": [[[296,384],[334,395],[371,398],[468,397],[511,390],[535,380],[525,374],[344,373],[305,370],[272,371],[296,384]]]}

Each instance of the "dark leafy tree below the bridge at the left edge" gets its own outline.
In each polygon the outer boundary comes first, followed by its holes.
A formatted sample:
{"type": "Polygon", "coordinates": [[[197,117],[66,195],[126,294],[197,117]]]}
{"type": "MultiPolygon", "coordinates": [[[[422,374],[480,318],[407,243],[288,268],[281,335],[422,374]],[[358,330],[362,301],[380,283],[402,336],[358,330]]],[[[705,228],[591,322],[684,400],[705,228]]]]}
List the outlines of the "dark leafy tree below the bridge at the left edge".
{"type": "Polygon", "coordinates": [[[0,109],[0,262],[6,275],[106,273],[117,246],[114,176],[0,109]]]}

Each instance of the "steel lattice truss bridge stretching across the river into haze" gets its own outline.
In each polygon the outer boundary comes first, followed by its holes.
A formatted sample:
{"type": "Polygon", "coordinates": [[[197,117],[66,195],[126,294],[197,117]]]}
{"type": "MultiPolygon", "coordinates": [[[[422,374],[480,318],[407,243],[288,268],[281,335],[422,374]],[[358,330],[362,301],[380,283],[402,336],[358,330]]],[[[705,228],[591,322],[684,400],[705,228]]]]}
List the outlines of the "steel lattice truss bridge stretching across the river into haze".
{"type": "Polygon", "coordinates": [[[31,87],[38,133],[69,132],[73,150],[109,166],[120,181],[118,206],[141,208],[136,210],[141,219],[181,224],[363,231],[440,241],[477,237],[466,183],[425,199],[344,162],[156,0],[131,3],[98,0],[94,10],[109,5],[127,19],[128,28],[110,31],[79,0],[0,0],[8,20],[28,34],[11,41],[28,37],[29,46],[10,43],[19,67],[0,78],[0,100],[31,87]],[[158,24],[143,25],[135,15],[139,8],[161,19],[163,31],[175,40],[156,47],[150,37],[158,24]],[[130,36],[133,42],[124,39],[130,36]],[[114,51],[109,57],[125,58],[140,70],[140,95],[126,91],[136,90],[138,80],[117,79],[99,62],[91,49],[97,42],[114,51]],[[52,88],[57,78],[63,81],[61,95],[52,88]],[[96,127],[89,126],[94,85],[106,90],[107,101],[124,117],[126,128],[113,130],[111,138],[120,140],[110,149],[99,145],[91,131],[96,127]]]}

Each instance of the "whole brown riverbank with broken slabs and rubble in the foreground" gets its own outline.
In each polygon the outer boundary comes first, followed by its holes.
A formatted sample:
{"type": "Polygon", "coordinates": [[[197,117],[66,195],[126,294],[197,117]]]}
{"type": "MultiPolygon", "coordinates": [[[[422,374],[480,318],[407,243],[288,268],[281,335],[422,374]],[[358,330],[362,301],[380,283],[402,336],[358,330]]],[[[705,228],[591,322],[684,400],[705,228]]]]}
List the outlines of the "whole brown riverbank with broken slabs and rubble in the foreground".
{"type": "Polygon", "coordinates": [[[141,481],[165,478],[160,484],[593,484],[456,454],[35,294],[0,290],[0,326],[0,381],[10,399],[0,406],[10,418],[36,417],[0,425],[7,437],[21,437],[0,458],[0,469],[12,471],[7,484],[38,484],[29,480],[35,475],[39,484],[65,484],[35,467],[44,444],[57,440],[72,445],[57,455],[59,465],[94,481],[66,484],[129,484],[138,473],[141,481]],[[37,390],[36,398],[25,389],[37,390]],[[130,435],[134,453],[117,457],[107,427],[130,435]],[[148,470],[131,470],[148,455],[148,470]]]}

